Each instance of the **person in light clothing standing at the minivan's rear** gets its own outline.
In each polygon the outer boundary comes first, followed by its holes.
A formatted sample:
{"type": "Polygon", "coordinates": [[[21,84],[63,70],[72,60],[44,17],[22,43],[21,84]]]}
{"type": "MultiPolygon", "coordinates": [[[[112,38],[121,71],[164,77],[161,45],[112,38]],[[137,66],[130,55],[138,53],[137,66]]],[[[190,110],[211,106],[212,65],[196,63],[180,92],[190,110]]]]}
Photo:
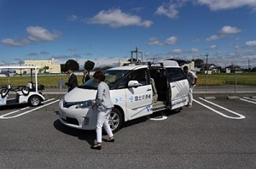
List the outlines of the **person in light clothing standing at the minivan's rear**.
{"type": "Polygon", "coordinates": [[[195,84],[197,82],[197,76],[195,73],[191,70],[189,70],[188,66],[183,67],[183,71],[185,73],[185,76],[187,77],[189,81],[189,104],[187,105],[188,107],[192,107],[192,102],[193,102],[193,89],[195,87],[195,84]]]}

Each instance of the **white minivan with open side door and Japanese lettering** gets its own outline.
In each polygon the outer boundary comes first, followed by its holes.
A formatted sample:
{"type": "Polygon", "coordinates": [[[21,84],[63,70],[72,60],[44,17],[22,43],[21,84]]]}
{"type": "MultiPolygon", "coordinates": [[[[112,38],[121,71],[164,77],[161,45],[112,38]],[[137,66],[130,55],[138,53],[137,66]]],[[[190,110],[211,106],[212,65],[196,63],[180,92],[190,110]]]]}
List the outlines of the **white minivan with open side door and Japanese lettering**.
{"type": "MultiPolygon", "coordinates": [[[[176,61],[157,65],[127,65],[104,72],[113,110],[109,121],[113,132],[131,121],[159,110],[181,110],[188,104],[189,82],[176,61]]],[[[96,129],[97,83],[93,78],[67,93],[59,104],[60,121],[67,127],[96,129]]]]}

